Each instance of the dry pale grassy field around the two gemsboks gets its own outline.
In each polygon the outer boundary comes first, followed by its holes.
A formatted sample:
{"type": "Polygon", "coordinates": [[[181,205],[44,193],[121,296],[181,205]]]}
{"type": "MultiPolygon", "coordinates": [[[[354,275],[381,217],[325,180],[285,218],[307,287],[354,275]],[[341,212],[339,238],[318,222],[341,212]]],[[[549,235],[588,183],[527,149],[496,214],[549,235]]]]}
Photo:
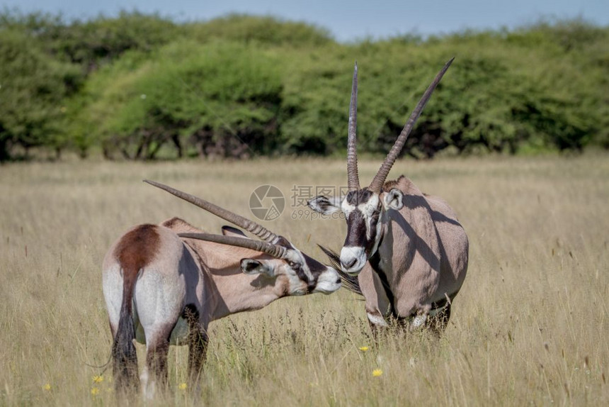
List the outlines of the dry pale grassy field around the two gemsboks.
{"type": "MultiPolygon", "coordinates": [[[[360,163],[363,183],[379,164],[360,163]]],[[[341,160],[0,167],[0,405],[115,403],[111,369],[96,383],[101,369],[89,367],[110,355],[106,249],[137,223],[181,216],[211,231],[223,224],[142,179],[246,216],[256,186],[278,186],[287,206],[265,225],[325,260],[314,243],[339,249],[346,225],[292,219],[291,190],[344,184],[345,167],[341,160]]],[[[469,234],[469,272],[443,338],[389,335],[375,344],[363,302],[344,289],[281,299],[212,323],[200,398],[180,389],[188,350],[172,347],[172,391],[147,405],[608,405],[609,158],[402,160],[390,177],[402,173],[443,196],[469,234]]]]}

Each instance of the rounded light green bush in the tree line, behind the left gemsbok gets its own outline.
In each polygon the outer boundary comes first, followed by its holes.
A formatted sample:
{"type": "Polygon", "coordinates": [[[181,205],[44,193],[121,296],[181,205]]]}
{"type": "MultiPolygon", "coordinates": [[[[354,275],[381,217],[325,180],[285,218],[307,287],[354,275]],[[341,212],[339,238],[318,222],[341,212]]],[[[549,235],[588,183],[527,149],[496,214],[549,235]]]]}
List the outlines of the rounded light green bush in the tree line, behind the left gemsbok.
{"type": "Polygon", "coordinates": [[[88,128],[107,155],[118,150],[127,159],[152,159],[167,143],[178,157],[185,149],[268,152],[281,97],[276,65],[263,50],[234,43],[167,45],[152,60],[100,72],[77,127],[88,128]]]}

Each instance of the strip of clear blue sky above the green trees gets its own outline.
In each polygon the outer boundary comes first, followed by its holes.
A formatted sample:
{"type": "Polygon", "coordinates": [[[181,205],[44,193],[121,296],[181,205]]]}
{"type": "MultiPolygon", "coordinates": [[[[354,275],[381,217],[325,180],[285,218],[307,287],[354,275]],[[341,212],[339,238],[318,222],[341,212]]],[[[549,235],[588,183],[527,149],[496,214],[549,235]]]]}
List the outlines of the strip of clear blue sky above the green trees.
{"type": "Polygon", "coordinates": [[[21,11],[61,11],[69,18],[87,18],[121,9],[159,12],[183,20],[209,20],[227,13],[271,14],[328,28],[340,41],[404,33],[452,33],[465,28],[513,28],[545,18],[574,18],[609,25],[608,0],[0,0],[21,11]]]}

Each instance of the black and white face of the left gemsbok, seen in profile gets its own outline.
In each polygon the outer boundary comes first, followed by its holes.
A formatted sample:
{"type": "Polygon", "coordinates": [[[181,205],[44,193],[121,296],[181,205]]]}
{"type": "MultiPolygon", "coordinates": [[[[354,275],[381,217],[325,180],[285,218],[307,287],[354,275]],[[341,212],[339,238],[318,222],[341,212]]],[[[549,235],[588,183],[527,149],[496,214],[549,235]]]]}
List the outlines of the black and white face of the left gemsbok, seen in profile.
{"type": "Polygon", "coordinates": [[[331,294],[341,288],[341,277],[338,272],[331,267],[321,264],[317,260],[305,255],[298,250],[287,239],[280,236],[277,245],[282,245],[288,248],[287,260],[241,260],[241,269],[246,274],[255,274],[262,272],[270,277],[277,277],[284,274],[288,277],[288,295],[302,296],[305,294],[322,293],[331,294]],[[256,264],[248,262],[257,262],[260,267],[256,268],[256,264]],[[270,264],[270,263],[273,264],[270,264]],[[265,264],[267,263],[267,264],[265,264]],[[249,270],[247,269],[249,267],[249,270]]]}

